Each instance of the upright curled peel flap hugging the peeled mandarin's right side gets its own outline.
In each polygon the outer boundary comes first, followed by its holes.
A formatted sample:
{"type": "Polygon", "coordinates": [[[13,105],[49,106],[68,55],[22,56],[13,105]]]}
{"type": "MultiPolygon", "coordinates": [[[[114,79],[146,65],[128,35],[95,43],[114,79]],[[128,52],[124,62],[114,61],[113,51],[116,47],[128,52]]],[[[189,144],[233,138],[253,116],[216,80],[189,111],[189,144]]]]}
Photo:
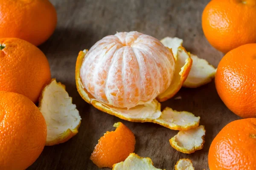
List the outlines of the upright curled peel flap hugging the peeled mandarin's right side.
{"type": "Polygon", "coordinates": [[[165,92],[157,96],[157,100],[159,102],[164,102],[177,94],[189,75],[192,62],[193,61],[190,54],[186,51],[186,49],[179,47],[177,49],[177,61],[175,63],[175,74],[172,79],[172,83],[165,92]]]}

